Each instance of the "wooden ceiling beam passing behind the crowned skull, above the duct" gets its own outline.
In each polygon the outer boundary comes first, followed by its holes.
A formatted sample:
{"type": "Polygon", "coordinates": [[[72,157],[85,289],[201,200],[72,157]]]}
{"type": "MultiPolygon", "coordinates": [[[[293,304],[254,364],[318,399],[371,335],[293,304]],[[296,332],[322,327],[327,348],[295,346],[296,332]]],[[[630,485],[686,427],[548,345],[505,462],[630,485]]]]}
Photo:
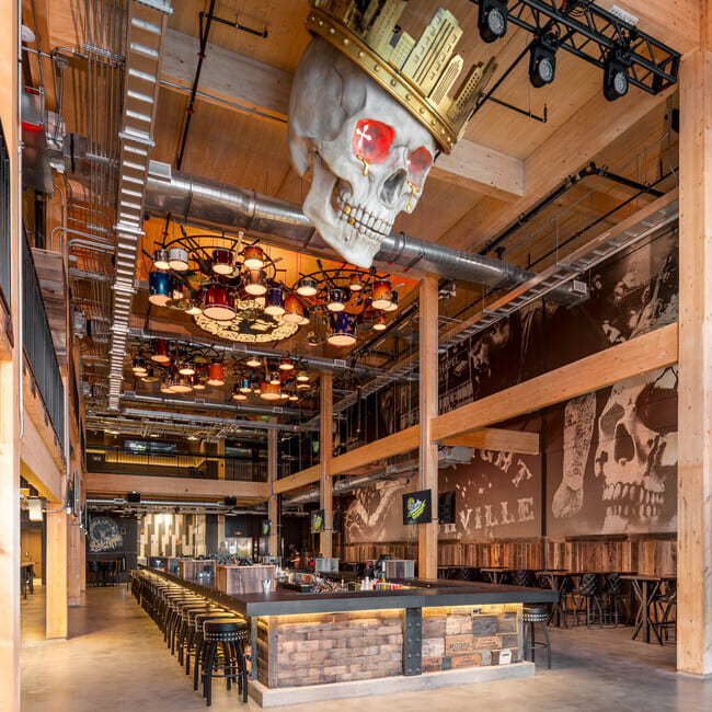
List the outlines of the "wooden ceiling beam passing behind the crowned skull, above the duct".
{"type": "MultiPolygon", "coordinates": [[[[195,76],[198,39],[166,30],[161,80],[169,89],[190,91],[195,76]]],[[[237,51],[208,45],[198,96],[259,118],[286,123],[294,76],[237,51]]],[[[501,151],[462,139],[450,156],[441,156],[433,168],[437,179],[514,199],[524,194],[524,162],[501,151]]]]}

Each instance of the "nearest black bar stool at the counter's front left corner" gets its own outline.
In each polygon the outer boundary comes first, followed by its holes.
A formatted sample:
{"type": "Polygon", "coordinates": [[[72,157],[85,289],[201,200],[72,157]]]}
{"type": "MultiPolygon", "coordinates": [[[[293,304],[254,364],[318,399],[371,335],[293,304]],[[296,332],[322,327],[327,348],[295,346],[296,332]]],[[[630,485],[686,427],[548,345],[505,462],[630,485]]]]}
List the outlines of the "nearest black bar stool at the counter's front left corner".
{"type": "Polygon", "coordinates": [[[205,663],[203,664],[203,696],[207,707],[213,704],[213,678],[225,677],[228,690],[237,680],[242,702],[248,701],[248,666],[242,643],[248,640],[248,622],[237,618],[214,618],[203,623],[205,663]],[[220,647],[222,655],[220,656],[220,647]]]}

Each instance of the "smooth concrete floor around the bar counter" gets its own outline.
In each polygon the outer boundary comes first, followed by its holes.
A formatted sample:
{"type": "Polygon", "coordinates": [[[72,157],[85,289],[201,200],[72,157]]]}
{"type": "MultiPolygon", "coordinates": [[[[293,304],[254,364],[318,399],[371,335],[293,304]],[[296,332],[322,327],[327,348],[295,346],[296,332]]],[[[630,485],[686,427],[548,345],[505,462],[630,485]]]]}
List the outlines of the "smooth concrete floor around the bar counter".
{"type": "MultiPolygon", "coordinates": [[[[44,592],[22,605],[23,712],[200,710],[205,704],[171,657],[156,625],[124,587],[92,588],[70,609],[67,641],[44,640],[44,592]]],[[[551,632],[553,669],[532,678],[426,692],[279,708],[300,712],[702,712],[712,680],[675,673],[675,645],[630,640],[628,628],[551,632]]],[[[250,701],[250,710],[260,708],[250,701]]],[[[233,691],[215,688],[215,710],[240,710],[233,691]]]]}

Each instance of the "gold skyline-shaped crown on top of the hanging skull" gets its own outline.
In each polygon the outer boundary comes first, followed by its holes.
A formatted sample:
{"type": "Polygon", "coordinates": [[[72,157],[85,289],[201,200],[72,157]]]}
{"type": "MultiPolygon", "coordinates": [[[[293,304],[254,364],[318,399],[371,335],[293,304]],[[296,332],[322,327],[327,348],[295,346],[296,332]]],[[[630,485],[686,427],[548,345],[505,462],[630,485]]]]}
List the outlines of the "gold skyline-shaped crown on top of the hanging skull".
{"type": "Polygon", "coordinates": [[[355,61],[417,118],[449,153],[464,133],[484,84],[495,69],[474,65],[453,97],[462,71],[453,55],[462,36],[448,10],[438,8],[416,42],[397,23],[407,0],[312,0],[307,28],[355,61]]]}

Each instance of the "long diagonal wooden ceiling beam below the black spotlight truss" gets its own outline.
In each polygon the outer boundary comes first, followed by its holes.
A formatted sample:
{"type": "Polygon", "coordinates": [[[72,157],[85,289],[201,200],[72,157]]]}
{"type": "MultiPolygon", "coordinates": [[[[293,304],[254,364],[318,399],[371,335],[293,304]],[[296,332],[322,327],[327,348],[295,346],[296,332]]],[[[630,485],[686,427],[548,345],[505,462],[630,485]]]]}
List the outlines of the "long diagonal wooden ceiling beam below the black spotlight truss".
{"type": "Polygon", "coordinates": [[[602,94],[597,94],[527,158],[522,197],[510,203],[493,197],[483,198],[450,227],[438,242],[467,250],[481,246],[496,237],[666,101],[670,92],[667,90],[652,96],[631,90],[630,95],[617,102],[608,102],[602,94]]]}

